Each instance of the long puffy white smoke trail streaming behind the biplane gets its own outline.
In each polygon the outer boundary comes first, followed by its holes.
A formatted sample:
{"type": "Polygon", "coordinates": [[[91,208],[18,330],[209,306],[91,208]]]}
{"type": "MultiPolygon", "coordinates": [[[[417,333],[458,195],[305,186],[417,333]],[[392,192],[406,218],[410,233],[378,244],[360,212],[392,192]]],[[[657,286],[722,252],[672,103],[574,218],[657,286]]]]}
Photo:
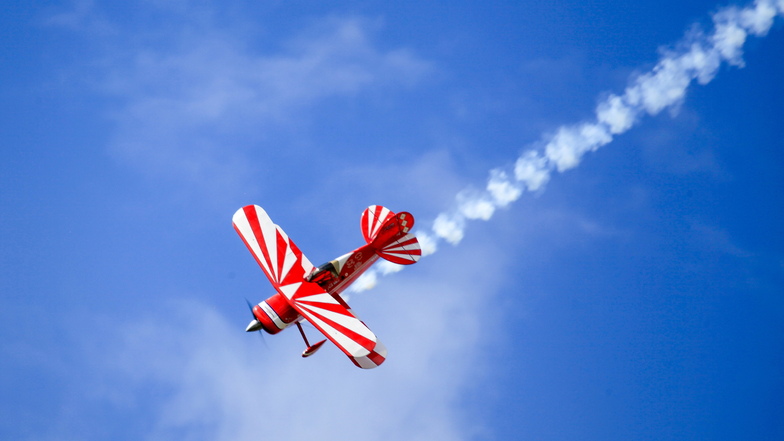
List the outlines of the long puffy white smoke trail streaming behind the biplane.
{"type": "MultiPolygon", "coordinates": [[[[749,35],[767,34],[777,16],[784,16],[784,0],[756,0],[744,8],[735,6],[713,14],[713,32],[691,31],[662,55],[654,68],[634,77],[623,94],[611,94],[596,106],[595,119],[559,127],[542,137],[543,148],[532,148],[517,158],[513,167],[490,172],[484,190],[464,190],[449,211],[439,214],[429,232],[418,231],[423,255],[436,252],[441,240],[457,245],[471,220],[489,220],[496,209],[520,198],[525,191],[544,188],[553,171],[577,167],[583,155],[612,142],[631,129],[642,116],[656,115],[680,104],[689,85],[709,83],[723,62],[743,67],[743,45],[749,35]]],[[[384,262],[353,286],[354,292],[375,286],[379,275],[397,272],[401,266],[384,262]]]]}

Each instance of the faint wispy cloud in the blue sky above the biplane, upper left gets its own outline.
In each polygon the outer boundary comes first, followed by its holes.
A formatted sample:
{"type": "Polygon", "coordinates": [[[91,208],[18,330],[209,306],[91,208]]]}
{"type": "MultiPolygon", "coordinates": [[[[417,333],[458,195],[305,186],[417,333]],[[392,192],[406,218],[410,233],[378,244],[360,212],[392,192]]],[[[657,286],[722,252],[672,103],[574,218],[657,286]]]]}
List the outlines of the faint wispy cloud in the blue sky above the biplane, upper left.
{"type": "Polygon", "coordinates": [[[295,124],[310,106],[408,87],[431,70],[410,50],[379,48],[377,23],[359,17],[313,21],[267,41],[271,48],[215,24],[208,13],[195,24],[178,20],[188,14],[180,9],[166,8],[175,16],[141,32],[112,27],[90,2],[48,22],[100,36],[102,55],[90,78],[115,103],[112,152],[146,174],[216,195],[247,180],[254,150],[274,155],[279,147],[266,146],[269,132],[295,124]],[[113,31],[99,32],[95,23],[113,31]]]}

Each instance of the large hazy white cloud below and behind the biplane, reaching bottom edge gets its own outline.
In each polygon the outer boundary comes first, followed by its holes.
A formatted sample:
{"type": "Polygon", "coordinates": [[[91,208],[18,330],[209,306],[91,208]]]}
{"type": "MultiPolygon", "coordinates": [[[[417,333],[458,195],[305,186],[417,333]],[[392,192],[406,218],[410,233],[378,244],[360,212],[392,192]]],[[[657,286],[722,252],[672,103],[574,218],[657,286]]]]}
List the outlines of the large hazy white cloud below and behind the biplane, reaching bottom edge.
{"type": "MultiPolygon", "coordinates": [[[[329,343],[303,360],[296,329],[266,336],[265,349],[243,332],[245,317],[229,320],[189,301],[113,321],[105,347],[90,354],[102,364],[89,393],[105,397],[111,411],[149,407],[146,439],[467,439],[479,423],[460,413],[461,393],[482,365],[474,362],[478,348],[495,332],[474,300],[481,292],[492,301],[502,280],[492,247],[462,247],[390,279],[372,297],[352,299],[389,349],[372,371],[329,343]],[[449,270],[467,261],[472,271],[449,270]],[[145,398],[142,390],[159,392],[145,398]]],[[[313,328],[306,332],[317,338],[313,328]]]]}

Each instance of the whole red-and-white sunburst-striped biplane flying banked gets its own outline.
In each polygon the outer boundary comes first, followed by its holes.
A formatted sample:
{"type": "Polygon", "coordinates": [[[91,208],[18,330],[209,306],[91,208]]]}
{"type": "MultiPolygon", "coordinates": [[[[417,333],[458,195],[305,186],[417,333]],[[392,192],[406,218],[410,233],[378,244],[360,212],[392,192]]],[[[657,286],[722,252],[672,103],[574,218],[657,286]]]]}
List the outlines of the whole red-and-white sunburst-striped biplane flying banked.
{"type": "Polygon", "coordinates": [[[382,257],[410,265],[422,251],[409,231],[414,226],[410,213],[393,213],[380,205],[368,207],[361,218],[365,245],[319,267],[275,225],[263,208],[248,205],[232,218],[237,230],[264,274],[277,291],[253,306],[253,321],[246,331],[264,330],[277,334],[290,325],[299,328],[307,348],[303,357],[313,355],[326,340],[311,345],[300,322],[305,319],[363,369],[384,362],[387,349],[340,297],[352,282],[382,257]]]}

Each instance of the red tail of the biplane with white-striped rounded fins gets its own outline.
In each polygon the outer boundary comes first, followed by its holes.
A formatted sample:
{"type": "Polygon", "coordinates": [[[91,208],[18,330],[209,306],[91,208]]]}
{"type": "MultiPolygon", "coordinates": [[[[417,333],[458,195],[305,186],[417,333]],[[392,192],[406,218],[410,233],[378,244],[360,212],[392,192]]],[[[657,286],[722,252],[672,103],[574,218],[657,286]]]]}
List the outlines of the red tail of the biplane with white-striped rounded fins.
{"type": "Polygon", "coordinates": [[[416,263],[422,256],[419,241],[409,233],[414,216],[405,211],[395,214],[381,205],[371,205],[362,213],[362,236],[380,257],[400,265],[416,263]]]}

